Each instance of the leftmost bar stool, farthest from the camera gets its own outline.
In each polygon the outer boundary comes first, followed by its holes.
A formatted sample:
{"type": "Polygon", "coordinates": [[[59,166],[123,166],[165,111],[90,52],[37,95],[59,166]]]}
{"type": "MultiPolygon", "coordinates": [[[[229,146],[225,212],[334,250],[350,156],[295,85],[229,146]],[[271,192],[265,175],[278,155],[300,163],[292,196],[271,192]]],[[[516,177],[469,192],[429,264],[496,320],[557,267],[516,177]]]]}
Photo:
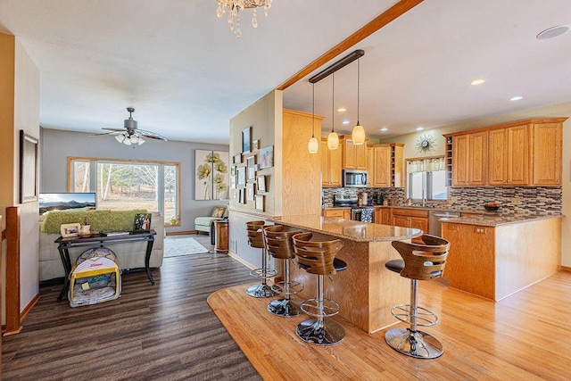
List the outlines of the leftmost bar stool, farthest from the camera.
{"type": "Polygon", "coordinates": [[[266,253],[266,244],[264,242],[264,221],[249,221],[246,222],[246,233],[248,235],[248,244],[250,246],[261,249],[261,268],[252,269],[250,275],[252,277],[260,277],[261,283],[258,285],[250,286],[246,293],[254,298],[269,298],[277,294],[268,286],[268,278],[275,277],[277,271],[275,269],[268,269],[268,260],[266,253]]]}

